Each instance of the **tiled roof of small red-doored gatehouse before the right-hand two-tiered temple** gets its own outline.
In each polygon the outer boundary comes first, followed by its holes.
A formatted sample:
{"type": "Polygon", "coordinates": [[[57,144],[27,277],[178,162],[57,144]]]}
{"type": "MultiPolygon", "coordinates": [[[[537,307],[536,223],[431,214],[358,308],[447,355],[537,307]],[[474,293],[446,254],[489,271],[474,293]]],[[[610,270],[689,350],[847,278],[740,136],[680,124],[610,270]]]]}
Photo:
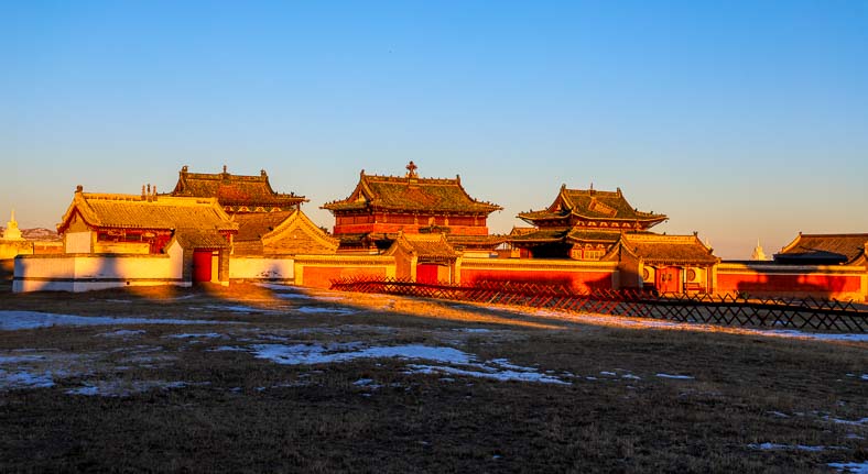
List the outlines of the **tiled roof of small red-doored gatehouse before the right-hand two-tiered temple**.
{"type": "Polygon", "coordinates": [[[620,243],[645,263],[710,265],[719,261],[696,235],[623,234],[620,243]]]}

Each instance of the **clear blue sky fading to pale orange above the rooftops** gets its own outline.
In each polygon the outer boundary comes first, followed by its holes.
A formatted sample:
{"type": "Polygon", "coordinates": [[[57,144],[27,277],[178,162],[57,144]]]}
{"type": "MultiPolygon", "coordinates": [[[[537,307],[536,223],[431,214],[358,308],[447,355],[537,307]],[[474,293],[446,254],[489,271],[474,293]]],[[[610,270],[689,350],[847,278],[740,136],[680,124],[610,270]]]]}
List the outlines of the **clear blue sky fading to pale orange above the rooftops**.
{"type": "Polygon", "coordinates": [[[227,165],[330,228],[410,159],[498,233],[592,183],[725,258],[868,232],[868,1],[0,2],[0,223],[227,165]]]}

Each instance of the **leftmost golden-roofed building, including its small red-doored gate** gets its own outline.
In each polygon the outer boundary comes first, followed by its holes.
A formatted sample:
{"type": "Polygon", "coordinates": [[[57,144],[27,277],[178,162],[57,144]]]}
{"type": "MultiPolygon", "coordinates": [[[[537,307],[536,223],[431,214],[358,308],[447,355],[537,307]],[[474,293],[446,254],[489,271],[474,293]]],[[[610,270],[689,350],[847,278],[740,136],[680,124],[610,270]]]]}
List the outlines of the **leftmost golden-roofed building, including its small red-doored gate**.
{"type": "Polygon", "coordinates": [[[66,254],[167,253],[183,249],[184,279],[227,282],[229,250],[238,223],[215,198],[75,191],[57,224],[66,254]]]}

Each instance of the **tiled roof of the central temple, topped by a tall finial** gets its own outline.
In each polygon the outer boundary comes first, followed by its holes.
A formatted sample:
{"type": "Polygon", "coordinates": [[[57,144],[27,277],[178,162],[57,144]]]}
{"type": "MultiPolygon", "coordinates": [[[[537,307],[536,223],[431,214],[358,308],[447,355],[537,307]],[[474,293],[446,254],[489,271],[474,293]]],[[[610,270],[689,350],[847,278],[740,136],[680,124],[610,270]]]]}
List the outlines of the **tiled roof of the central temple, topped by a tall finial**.
{"type": "Polygon", "coordinates": [[[462,186],[459,176],[455,179],[420,178],[413,162],[408,169],[411,172],[404,177],[366,175],[362,169],[359,183],[348,198],[327,202],[322,208],[333,212],[373,208],[477,214],[503,209],[471,198],[462,186]]]}

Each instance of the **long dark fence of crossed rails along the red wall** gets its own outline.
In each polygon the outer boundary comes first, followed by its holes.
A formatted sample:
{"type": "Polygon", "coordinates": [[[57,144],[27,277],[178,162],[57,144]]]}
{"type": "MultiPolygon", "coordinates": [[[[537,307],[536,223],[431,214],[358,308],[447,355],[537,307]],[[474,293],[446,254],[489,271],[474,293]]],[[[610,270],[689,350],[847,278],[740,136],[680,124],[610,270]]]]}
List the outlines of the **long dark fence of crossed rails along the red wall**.
{"type": "Polygon", "coordinates": [[[462,286],[394,278],[340,278],[332,289],[459,301],[523,306],[726,326],[867,332],[868,311],[853,301],[818,298],[756,298],[746,295],[657,294],[639,289],[592,289],[513,282],[462,286]]]}

